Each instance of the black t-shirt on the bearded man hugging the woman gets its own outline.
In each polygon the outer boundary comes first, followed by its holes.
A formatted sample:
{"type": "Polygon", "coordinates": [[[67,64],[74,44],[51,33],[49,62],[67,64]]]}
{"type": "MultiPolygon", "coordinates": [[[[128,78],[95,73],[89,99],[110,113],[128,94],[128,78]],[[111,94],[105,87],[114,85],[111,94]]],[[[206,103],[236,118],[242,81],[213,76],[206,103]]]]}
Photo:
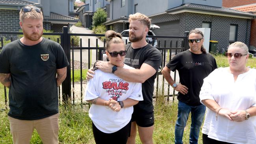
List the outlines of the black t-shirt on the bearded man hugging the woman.
{"type": "Polygon", "coordinates": [[[127,44],[126,51],[127,53],[124,59],[124,63],[126,65],[139,69],[143,63],[146,63],[156,70],[156,73],[152,77],[142,83],[143,101],[139,101],[137,105],[134,105],[134,113],[152,113],[154,110],[152,102],[154,82],[158,69],[161,65],[162,55],[160,51],[151,44],[147,44],[142,48],[136,49],[132,48],[131,44],[127,44]]]}

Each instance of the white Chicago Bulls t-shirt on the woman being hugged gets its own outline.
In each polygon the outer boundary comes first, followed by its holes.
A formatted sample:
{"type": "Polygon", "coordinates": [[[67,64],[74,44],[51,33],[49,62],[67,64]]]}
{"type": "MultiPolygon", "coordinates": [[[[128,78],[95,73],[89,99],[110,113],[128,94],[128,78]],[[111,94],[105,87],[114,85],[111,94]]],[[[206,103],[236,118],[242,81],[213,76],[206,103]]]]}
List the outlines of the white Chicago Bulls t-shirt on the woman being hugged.
{"type": "MultiPolygon", "coordinates": [[[[123,68],[134,69],[128,65],[123,68]]],[[[127,98],[143,100],[141,83],[125,81],[115,74],[96,70],[94,77],[88,82],[85,92],[85,100],[93,100],[100,97],[104,100],[113,98],[116,101],[124,101],[127,98]]],[[[93,124],[104,133],[114,133],[126,126],[131,118],[134,108],[121,108],[119,112],[113,111],[107,106],[91,105],[89,117],[93,124]]]]}

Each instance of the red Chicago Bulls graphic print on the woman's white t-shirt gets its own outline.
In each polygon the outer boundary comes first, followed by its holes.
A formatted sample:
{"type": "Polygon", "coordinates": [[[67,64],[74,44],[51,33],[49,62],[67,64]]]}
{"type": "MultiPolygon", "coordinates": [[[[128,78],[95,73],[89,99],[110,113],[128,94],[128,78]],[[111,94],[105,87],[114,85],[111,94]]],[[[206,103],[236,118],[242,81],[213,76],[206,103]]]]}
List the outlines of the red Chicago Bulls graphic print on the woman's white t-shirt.
{"type": "Polygon", "coordinates": [[[112,98],[115,101],[119,101],[122,94],[126,94],[129,89],[129,83],[124,82],[122,79],[109,79],[109,81],[104,81],[102,83],[102,88],[106,89],[106,93],[109,95],[109,98],[112,98]]]}

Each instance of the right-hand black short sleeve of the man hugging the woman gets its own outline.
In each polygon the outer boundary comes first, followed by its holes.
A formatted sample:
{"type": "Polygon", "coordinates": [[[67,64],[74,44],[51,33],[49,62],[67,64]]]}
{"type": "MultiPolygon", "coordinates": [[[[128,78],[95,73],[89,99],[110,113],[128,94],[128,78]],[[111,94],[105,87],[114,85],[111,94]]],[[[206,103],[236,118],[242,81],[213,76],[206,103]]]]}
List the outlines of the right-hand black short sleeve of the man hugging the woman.
{"type": "Polygon", "coordinates": [[[161,62],[162,54],[157,49],[149,52],[147,59],[144,61],[144,63],[147,63],[148,65],[152,66],[156,70],[156,72],[158,72],[161,62]]]}

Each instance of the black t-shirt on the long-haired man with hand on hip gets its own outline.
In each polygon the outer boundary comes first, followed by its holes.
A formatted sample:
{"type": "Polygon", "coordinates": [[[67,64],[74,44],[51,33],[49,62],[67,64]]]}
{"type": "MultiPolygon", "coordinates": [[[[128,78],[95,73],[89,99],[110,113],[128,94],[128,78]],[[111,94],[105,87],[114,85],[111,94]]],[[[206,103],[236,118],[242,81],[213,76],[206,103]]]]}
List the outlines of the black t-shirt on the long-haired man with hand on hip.
{"type": "Polygon", "coordinates": [[[186,50],[175,55],[166,66],[172,71],[178,70],[180,83],[188,88],[185,95],[178,92],[178,100],[191,106],[201,105],[199,93],[203,79],[217,68],[214,57],[186,50]]]}

